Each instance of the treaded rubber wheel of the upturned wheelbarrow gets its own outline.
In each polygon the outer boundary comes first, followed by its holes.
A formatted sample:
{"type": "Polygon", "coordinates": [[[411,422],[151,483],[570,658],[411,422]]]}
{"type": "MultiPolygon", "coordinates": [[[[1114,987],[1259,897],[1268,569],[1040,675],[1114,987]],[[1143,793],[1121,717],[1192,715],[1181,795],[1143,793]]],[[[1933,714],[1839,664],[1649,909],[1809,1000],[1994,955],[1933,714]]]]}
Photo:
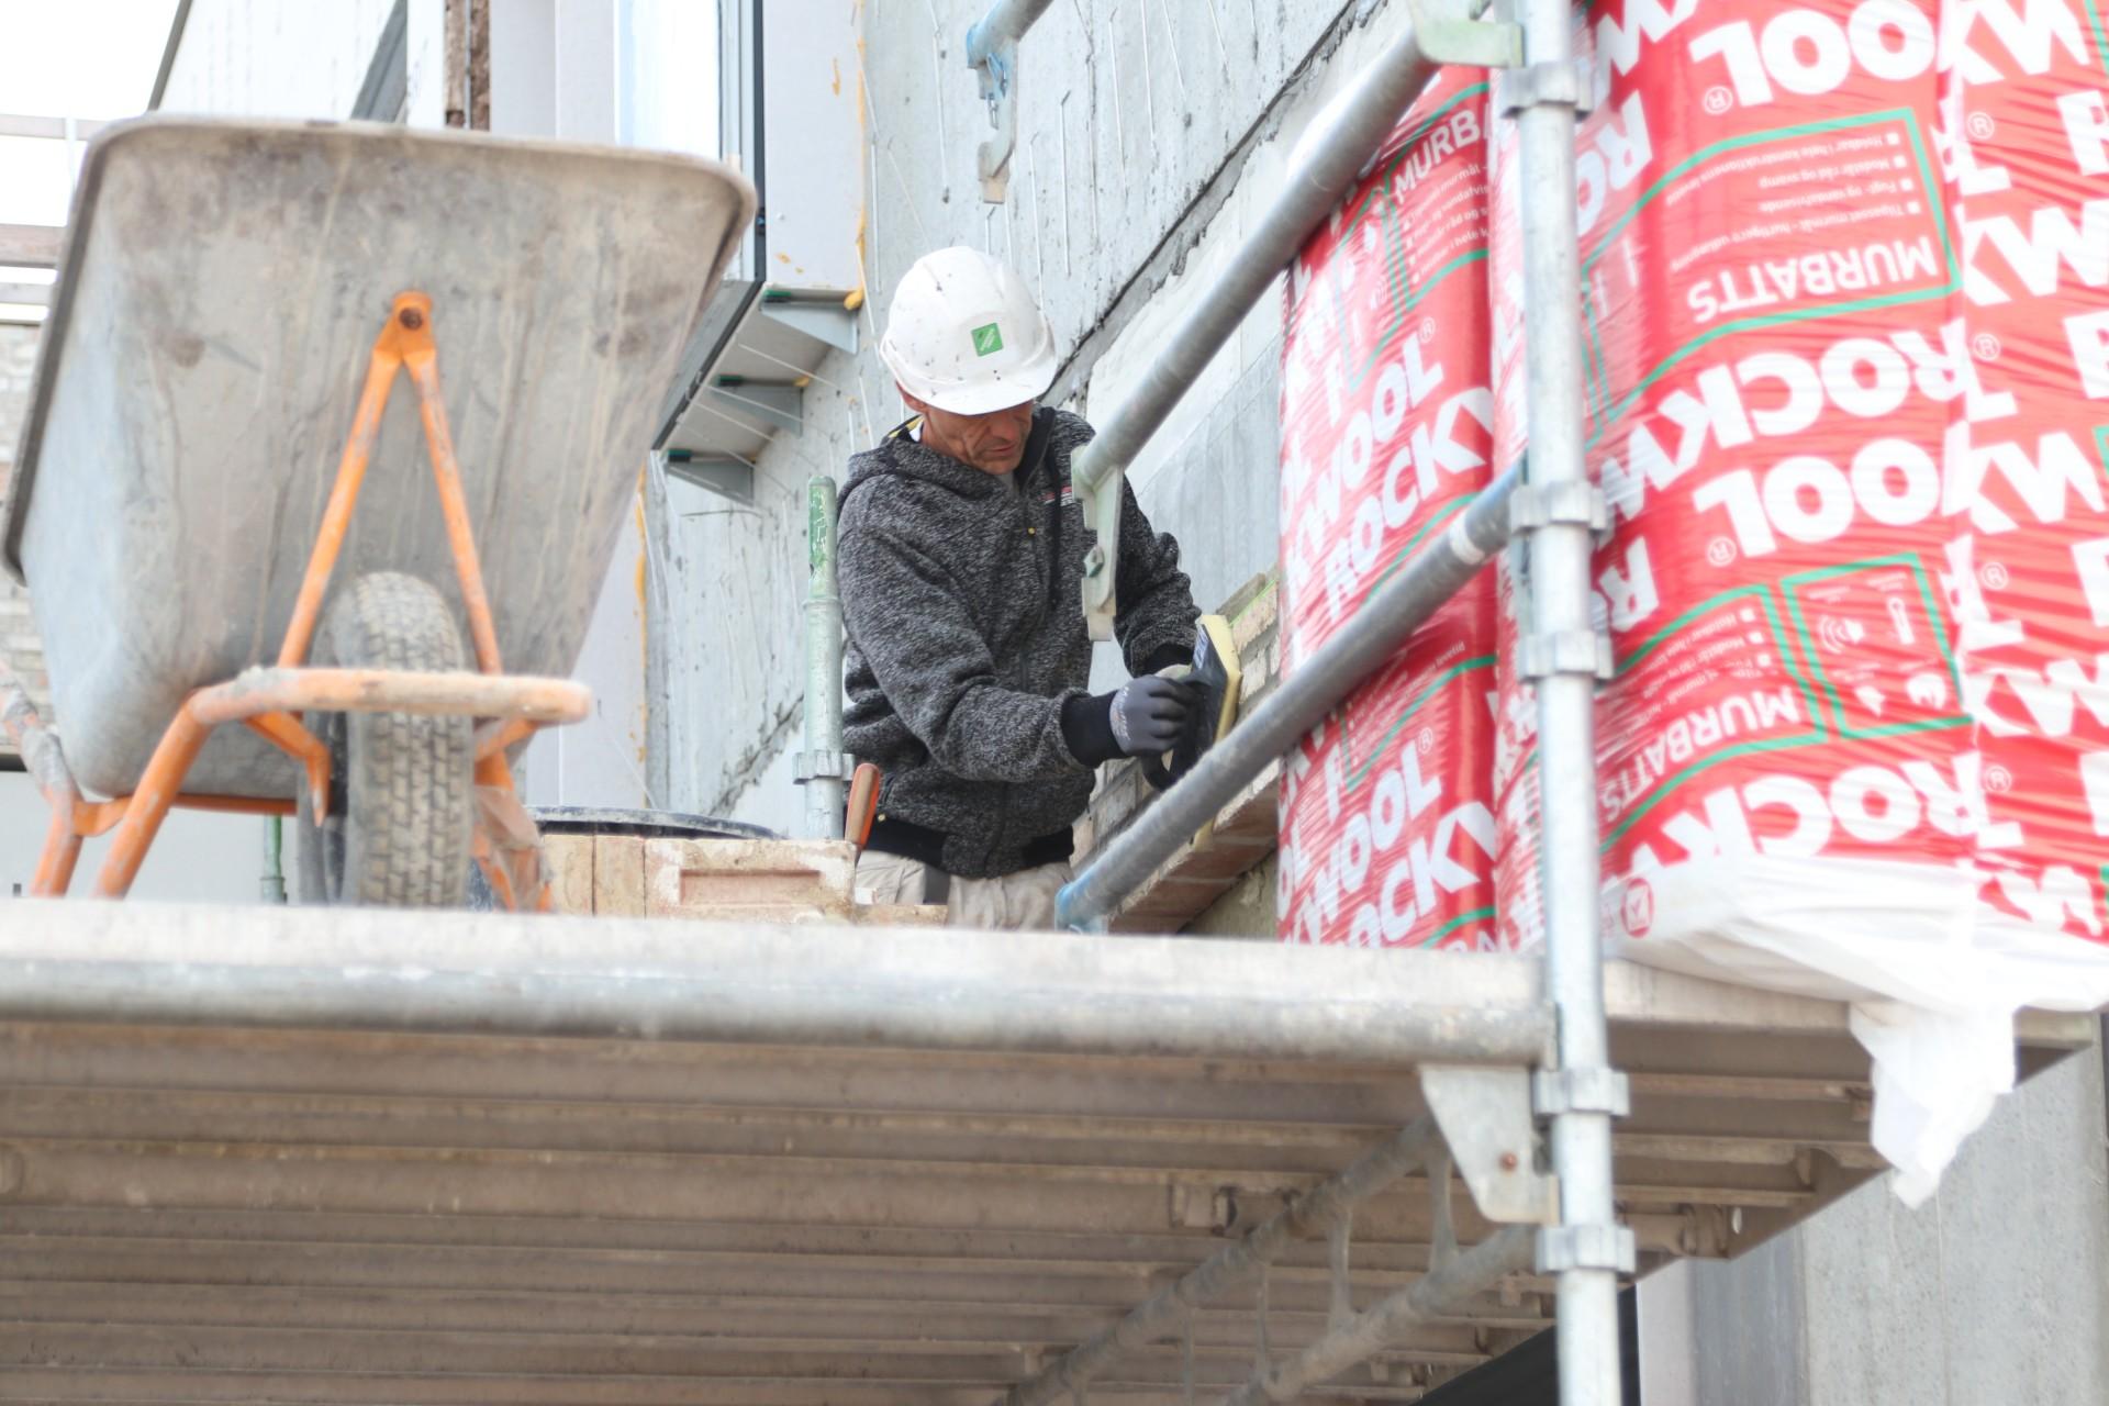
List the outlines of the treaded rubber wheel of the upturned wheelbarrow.
{"type": "MultiPolygon", "coordinates": [[[[361,575],[323,618],[314,662],[337,668],[466,668],[447,601],[396,571],[361,575]]],[[[297,898],[325,904],[453,909],[468,898],[475,831],[475,719],[426,712],[310,712],[331,753],[329,814],[306,782],[297,898]]]]}

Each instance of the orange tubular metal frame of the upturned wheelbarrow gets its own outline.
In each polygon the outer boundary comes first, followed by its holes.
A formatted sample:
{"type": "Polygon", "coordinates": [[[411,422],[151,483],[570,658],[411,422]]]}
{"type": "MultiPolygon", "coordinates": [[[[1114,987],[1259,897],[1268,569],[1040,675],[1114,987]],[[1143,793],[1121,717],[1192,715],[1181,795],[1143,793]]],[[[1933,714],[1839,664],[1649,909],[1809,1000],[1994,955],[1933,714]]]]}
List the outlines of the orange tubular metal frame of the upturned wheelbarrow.
{"type": "Polygon", "coordinates": [[[483,590],[483,567],[462,495],[462,472],[447,430],[447,405],[439,388],[439,352],[432,344],[432,299],[401,293],[388,325],[373,339],[365,388],[344,441],[337,481],[323,508],[308,573],[302,578],[278,647],[276,666],[247,668],[226,683],[202,687],[183,700],[169,729],[129,797],[86,801],[74,784],[59,740],[42,725],[30,696],[19,685],[0,689],[0,727],[6,729],[25,767],[51,805],[51,828],[36,862],[30,892],[61,898],[72,887],[80,843],[116,831],[101,873],[97,898],[122,898],[139,877],[160,822],[171,807],[291,816],[293,801],[190,795],[183,778],[215,727],[243,723],[306,769],[316,824],[329,812],[329,748],[308,731],[299,712],[428,712],[483,719],[475,738],[477,833],[475,858],[491,894],[506,909],[546,911],[553,904],[542,875],[540,843],[527,809],[519,803],[506,748],[550,723],[576,723],[593,710],[593,694],[569,679],[506,675],[491,624],[491,603],[483,590]],[[308,668],[323,597],[337,554],[359,508],[359,489],[380,438],[382,411],[399,371],[409,371],[424,417],[424,441],[432,457],[432,481],[447,525],[468,637],[477,651],[477,672],[405,672],[384,668],[308,668]]]}

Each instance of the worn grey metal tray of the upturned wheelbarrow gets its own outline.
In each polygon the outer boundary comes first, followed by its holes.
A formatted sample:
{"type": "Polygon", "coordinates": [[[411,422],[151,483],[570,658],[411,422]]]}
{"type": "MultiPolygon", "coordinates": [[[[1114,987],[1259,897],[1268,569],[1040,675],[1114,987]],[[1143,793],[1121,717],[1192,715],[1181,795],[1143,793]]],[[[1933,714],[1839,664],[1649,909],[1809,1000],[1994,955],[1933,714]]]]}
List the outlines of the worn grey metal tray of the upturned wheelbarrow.
{"type": "MultiPolygon", "coordinates": [[[[105,129],[0,508],[80,784],[129,793],[186,694],[276,658],[367,352],[411,289],[432,297],[506,672],[569,675],[683,341],[753,213],[736,171],[671,154],[369,122],[105,129]]],[[[382,569],[462,620],[407,388],[331,584],[382,569]]],[[[186,786],[293,788],[240,727],[186,786]]]]}

